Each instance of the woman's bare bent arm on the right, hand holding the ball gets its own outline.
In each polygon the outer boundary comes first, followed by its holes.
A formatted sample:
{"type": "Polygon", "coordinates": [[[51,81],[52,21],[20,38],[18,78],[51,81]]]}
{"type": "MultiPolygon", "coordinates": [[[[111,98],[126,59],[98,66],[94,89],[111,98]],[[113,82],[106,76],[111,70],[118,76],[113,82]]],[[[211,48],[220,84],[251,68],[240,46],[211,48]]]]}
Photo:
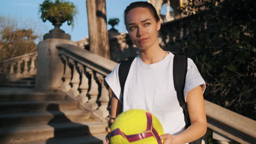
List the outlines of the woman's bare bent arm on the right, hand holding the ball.
{"type": "Polygon", "coordinates": [[[179,135],[165,134],[160,139],[164,143],[189,143],[202,137],[207,130],[205,102],[202,95],[202,87],[197,86],[187,94],[187,105],[191,125],[179,135]]]}

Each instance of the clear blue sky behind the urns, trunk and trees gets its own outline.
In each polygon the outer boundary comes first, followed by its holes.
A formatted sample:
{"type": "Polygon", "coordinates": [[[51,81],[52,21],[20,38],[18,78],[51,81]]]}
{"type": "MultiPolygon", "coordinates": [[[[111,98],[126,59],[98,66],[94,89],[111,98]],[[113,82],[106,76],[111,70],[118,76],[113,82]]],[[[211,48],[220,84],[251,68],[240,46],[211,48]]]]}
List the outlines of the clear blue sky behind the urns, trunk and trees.
{"type": "MultiPolygon", "coordinates": [[[[37,35],[43,35],[48,33],[54,26],[51,22],[43,22],[38,14],[39,4],[42,4],[44,0],[0,0],[1,9],[0,15],[10,17],[18,21],[19,28],[32,28],[35,29],[37,35]]],[[[147,1],[147,0],[141,0],[147,1]]],[[[61,29],[71,35],[72,41],[81,40],[88,37],[88,20],[86,13],[86,0],[69,0],[73,2],[78,8],[78,14],[74,19],[74,28],[67,25],[67,22],[63,23],[61,29]]],[[[106,0],[107,8],[107,20],[117,17],[120,22],[118,26],[115,26],[119,32],[127,32],[124,25],[123,13],[127,5],[132,0],[106,0]]],[[[165,8],[161,11],[165,11],[165,8]]],[[[108,25],[108,29],[111,26],[108,25]]]]}

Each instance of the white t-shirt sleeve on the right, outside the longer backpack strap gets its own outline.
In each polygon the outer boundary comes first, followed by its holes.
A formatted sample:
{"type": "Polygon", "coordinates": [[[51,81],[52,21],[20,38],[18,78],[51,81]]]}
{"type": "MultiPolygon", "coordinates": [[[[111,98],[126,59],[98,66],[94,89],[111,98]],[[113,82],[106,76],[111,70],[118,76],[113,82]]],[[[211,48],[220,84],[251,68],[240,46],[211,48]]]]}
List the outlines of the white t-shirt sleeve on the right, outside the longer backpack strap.
{"type": "Polygon", "coordinates": [[[186,75],[185,88],[184,88],[184,99],[186,102],[187,102],[186,98],[187,98],[188,92],[197,86],[201,86],[202,91],[205,92],[205,88],[206,88],[205,81],[203,80],[198,69],[196,68],[196,65],[193,62],[193,60],[188,58],[188,71],[186,75]]]}

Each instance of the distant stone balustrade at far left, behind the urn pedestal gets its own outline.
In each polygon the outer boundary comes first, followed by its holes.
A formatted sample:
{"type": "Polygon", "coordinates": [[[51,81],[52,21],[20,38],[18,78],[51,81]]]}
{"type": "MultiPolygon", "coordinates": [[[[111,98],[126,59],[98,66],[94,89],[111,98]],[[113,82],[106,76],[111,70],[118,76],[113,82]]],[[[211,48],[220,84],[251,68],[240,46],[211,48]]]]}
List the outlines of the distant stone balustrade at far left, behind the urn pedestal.
{"type": "Polygon", "coordinates": [[[0,67],[2,67],[0,73],[4,75],[4,79],[9,81],[16,81],[22,77],[36,75],[36,59],[37,52],[7,59],[0,62],[0,67]]]}

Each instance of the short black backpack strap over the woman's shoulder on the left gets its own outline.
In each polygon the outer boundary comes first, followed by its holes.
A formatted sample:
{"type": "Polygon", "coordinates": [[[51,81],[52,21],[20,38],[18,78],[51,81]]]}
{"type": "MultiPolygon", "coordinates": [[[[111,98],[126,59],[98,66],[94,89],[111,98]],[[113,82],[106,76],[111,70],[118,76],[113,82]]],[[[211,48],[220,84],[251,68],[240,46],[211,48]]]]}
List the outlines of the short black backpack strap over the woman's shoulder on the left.
{"type": "MultiPolygon", "coordinates": [[[[122,95],[124,95],[124,85],[125,85],[125,81],[127,79],[127,76],[129,74],[129,70],[130,70],[131,64],[133,62],[133,59],[134,58],[129,59],[129,60],[124,61],[124,62],[121,62],[120,65],[119,65],[118,77],[119,77],[119,83],[120,83],[122,95]]],[[[120,101],[123,104],[123,98],[121,98],[120,101]]]]}

